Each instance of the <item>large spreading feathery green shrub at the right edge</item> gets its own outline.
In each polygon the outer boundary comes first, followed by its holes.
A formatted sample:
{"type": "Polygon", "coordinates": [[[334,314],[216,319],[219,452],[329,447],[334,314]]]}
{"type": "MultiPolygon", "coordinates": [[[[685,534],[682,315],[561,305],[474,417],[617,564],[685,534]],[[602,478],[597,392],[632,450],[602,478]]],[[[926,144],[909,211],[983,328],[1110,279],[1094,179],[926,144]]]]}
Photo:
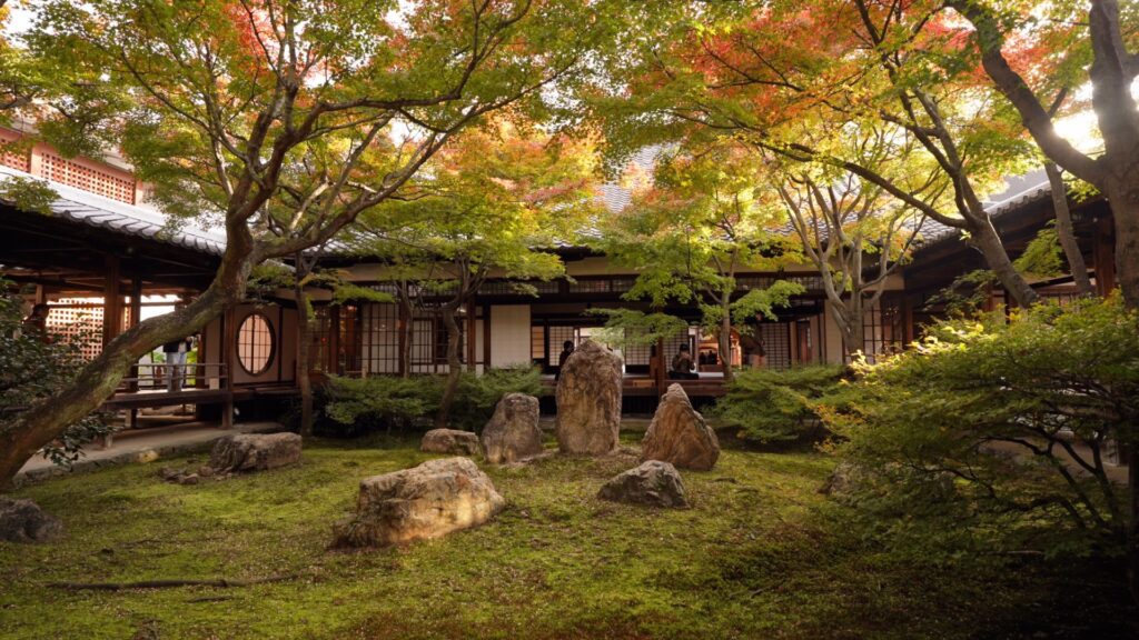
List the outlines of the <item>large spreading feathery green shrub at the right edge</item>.
{"type": "Polygon", "coordinates": [[[928,333],[859,366],[843,407],[818,407],[837,453],[870,476],[859,511],[894,533],[999,532],[993,550],[1130,556],[1139,577],[1139,502],[1107,462],[1139,442],[1139,314],[1116,296],[928,333]],[[927,490],[945,478],[951,493],[927,490]]]}

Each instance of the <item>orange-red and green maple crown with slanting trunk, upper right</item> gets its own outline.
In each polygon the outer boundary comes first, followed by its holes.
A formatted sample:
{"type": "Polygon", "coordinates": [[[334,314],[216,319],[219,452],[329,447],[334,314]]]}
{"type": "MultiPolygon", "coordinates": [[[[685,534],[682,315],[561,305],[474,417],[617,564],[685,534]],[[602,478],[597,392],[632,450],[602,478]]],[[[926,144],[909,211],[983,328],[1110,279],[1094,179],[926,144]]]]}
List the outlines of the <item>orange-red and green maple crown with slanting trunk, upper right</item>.
{"type": "MultiPolygon", "coordinates": [[[[939,3],[870,0],[699,6],[638,50],[621,93],[601,100],[620,147],[732,137],[785,158],[858,175],[961,229],[1009,295],[1038,295],[993,227],[984,192],[1024,170],[1033,146],[1018,118],[967,64],[966,34],[939,3]],[[935,170],[921,194],[843,142],[869,129],[935,170]],[[829,136],[804,138],[804,131],[829,136]]],[[[872,158],[871,158],[872,159],[872,158]]]]}

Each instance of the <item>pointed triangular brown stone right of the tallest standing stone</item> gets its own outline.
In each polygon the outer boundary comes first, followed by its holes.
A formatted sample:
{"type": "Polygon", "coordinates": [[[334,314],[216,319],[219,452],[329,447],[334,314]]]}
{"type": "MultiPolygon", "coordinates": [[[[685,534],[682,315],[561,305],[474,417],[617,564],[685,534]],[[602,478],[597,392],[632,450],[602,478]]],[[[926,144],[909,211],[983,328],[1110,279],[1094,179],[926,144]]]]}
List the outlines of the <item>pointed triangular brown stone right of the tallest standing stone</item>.
{"type": "Polygon", "coordinates": [[[685,387],[670,385],[645,432],[641,460],[661,460],[682,469],[706,471],[719,458],[720,441],[715,432],[693,409],[685,387]]]}

